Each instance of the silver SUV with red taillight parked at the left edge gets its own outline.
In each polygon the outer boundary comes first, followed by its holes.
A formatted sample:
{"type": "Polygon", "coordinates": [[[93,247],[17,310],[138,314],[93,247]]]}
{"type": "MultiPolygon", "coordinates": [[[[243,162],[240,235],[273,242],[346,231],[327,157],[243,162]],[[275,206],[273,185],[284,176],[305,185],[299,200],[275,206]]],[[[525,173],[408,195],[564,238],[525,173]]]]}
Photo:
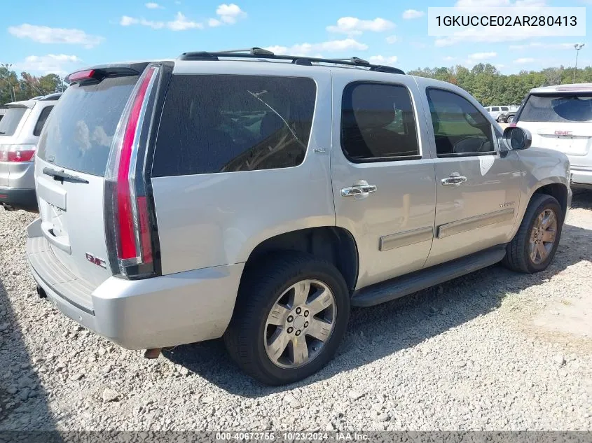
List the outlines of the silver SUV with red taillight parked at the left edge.
{"type": "Polygon", "coordinates": [[[37,210],[33,160],[41,129],[61,94],[6,104],[0,121],[0,204],[37,210]]]}

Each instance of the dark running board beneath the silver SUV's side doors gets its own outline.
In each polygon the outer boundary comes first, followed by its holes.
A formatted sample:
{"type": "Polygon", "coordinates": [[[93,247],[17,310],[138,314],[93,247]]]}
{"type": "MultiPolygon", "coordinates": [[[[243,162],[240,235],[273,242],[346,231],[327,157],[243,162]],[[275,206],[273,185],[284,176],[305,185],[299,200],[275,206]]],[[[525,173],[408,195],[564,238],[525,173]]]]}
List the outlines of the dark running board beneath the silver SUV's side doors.
{"type": "Polygon", "coordinates": [[[467,255],[450,262],[442,263],[394,279],[366,286],[354,292],[352,305],[369,307],[390,302],[418,290],[456,279],[478,269],[495,265],[506,255],[506,245],[495,246],[478,253],[467,255]]]}

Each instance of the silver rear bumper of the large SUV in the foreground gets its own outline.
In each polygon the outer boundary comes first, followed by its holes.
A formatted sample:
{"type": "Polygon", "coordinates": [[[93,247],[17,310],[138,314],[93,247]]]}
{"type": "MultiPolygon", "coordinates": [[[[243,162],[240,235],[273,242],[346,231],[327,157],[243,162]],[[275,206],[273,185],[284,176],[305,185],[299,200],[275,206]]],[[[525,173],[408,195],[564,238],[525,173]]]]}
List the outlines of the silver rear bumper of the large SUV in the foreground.
{"type": "Polygon", "coordinates": [[[197,269],[144,280],[109,277],[97,288],[55,258],[36,220],[27,261],[57,309],[127,349],[152,349],[221,337],[232,316],[244,264],[197,269]],[[69,281],[65,281],[70,279],[69,281]]]}

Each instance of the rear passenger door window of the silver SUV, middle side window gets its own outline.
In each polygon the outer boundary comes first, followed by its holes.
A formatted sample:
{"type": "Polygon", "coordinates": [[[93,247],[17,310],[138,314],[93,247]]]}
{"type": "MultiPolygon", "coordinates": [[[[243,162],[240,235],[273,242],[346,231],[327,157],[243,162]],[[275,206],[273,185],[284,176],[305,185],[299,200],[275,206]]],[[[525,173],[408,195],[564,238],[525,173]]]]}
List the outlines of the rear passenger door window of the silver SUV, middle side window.
{"type": "Polygon", "coordinates": [[[351,83],[343,90],[341,146],[352,162],[408,160],[420,155],[406,87],[351,83]]]}

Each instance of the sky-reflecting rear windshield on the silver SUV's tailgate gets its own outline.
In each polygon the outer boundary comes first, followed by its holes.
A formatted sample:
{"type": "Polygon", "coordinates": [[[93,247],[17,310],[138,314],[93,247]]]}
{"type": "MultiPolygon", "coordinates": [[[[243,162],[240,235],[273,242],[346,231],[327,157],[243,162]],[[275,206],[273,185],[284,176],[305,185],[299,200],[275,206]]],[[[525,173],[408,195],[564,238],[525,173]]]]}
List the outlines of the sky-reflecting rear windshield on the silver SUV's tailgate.
{"type": "Polygon", "coordinates": [[[57,166],[104,176],[113,134],[137,76],[72,85],[57,102],[39,139],[39,158],[57,166]]]}

